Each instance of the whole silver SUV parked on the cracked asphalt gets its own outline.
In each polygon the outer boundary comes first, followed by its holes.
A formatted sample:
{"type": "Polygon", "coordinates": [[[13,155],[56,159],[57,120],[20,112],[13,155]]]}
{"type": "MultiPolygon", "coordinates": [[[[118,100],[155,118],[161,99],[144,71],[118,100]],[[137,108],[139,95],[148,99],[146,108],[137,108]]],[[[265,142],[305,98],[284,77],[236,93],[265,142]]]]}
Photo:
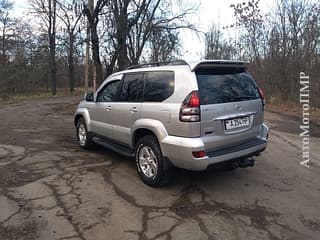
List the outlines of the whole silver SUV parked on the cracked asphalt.
{"type": "Polygon", "coordinates": [[[87,93],[74,117],[82,148],[134,156],[142,181],[168,182],[172,166],[252,166],[266,146],[264,97],[241,61],[178,60],[130,67],[87,93]]]}

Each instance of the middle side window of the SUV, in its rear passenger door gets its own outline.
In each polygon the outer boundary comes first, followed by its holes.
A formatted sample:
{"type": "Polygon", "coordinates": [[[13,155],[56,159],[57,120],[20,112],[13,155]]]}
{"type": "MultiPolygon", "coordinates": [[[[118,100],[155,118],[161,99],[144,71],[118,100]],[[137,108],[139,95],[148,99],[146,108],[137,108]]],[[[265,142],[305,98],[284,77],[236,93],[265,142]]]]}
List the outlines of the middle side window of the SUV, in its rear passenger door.
{"type": "Polygon", "coordinates": [[[119,100],[124,102],[140,102],[142,100],[144,73],[127,73],[119,93],[119,100]]]}

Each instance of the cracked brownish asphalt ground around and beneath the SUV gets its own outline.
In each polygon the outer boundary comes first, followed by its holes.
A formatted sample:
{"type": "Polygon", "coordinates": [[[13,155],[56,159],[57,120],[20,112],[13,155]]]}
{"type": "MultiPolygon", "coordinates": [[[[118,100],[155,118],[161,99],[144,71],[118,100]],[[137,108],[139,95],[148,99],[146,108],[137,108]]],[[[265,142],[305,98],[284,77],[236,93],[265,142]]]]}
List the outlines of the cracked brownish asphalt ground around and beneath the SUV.
{"type": "Polygon", "coordinates": [[[132,159],[76,143],[79,97],[0,103],[0,239],[319,239],[320,136],[299,165],[299,119],[266,112],[253,168],[176,170],[144,185],[132,159]]]}

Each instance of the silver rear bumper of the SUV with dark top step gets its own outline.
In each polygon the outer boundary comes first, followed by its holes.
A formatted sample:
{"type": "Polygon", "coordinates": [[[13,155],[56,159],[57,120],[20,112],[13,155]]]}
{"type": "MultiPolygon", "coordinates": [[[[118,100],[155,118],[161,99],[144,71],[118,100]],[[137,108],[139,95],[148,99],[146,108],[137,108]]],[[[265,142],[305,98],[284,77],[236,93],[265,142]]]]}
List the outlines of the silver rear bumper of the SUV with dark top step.
{"type": "Polygon", "coordinates": [[[160,145],[163,156],[169,158],[176,167],[201,171],[212,164],[253,156],[264,151],[268,143],[268,134],[269,128],[263,124],[261,126],[261,134],[256,138],[237,145],[206,151],[206,156],[203,158],[194,158],[192,156],[194,151],[205,150],[201,138],[167,136],[160,145]]]}

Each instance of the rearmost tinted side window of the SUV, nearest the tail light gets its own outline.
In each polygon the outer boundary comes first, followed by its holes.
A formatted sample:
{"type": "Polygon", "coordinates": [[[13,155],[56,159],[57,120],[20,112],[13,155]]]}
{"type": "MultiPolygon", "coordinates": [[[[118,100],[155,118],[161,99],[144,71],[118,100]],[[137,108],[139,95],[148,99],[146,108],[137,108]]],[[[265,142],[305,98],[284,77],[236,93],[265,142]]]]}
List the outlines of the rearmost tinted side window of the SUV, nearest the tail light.
{"type": "Polygon", "coordinates": [[[144,82],[144,102],[162,102],[174,91],[174,72],[146,72],[144,82]]]}

